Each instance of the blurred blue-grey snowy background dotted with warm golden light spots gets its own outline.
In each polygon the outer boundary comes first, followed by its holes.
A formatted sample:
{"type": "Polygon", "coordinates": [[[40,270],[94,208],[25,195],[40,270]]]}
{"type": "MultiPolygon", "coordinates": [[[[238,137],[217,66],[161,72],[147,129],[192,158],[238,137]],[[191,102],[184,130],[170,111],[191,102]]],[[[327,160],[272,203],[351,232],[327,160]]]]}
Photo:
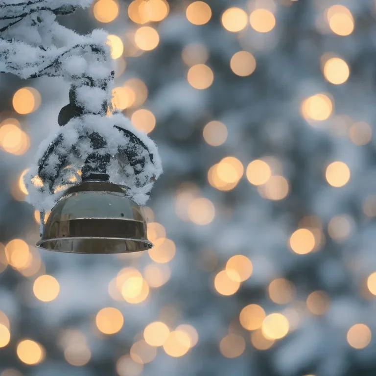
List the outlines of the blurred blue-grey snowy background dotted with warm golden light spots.
{"type": "Polygon", "coordinates": [[[98,0],[157,143],[149,252],[37,250],[23,174],[69,83],[0,77],[1,376],[374,376],[376,4],[98,0]]]}

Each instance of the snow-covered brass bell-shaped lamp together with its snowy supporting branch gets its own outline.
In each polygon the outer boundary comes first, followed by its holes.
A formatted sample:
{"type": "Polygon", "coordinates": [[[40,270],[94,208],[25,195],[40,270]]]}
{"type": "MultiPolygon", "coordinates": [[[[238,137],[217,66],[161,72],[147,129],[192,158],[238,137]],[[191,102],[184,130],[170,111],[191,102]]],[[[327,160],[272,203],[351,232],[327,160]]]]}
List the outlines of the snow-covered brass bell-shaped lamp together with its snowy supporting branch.
{"type": "Polygon", "coordinates": [[[0,4],[0,19],[8,23],[1,29],[0,71],[63,76],[71,83],[61,128],[41,144],[38,162],[24,176],[28,201],[41,213],[37,245],[71,253],[141,251],[152,244],[140,205],[162,173],[161,161],[146,134],[121,112],[109,111],[114,71],[107,34],[78,35],[56,21],[90,2],[0,4]]]}

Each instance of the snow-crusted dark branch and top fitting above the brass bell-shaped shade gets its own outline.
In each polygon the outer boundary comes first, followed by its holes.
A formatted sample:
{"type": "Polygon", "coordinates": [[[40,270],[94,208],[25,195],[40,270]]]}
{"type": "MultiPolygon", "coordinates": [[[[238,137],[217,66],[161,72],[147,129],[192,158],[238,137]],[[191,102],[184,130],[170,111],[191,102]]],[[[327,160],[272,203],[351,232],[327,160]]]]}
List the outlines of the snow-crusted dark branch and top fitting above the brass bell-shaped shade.
{"type": "Polygon", "coordinates": [[[88,179],[126,186],[129,197],[143,205],[162,173],[154,142],[121,113],[106,115],[113,86],[106,32],[78,35],[56,21],[56,15],[90,3],[0,0],[0,71],[71,82],[70,104],[58,118],[63,127],[41,144],[38,163],[25,175],[28,199],[40,211],[88,179]]]}

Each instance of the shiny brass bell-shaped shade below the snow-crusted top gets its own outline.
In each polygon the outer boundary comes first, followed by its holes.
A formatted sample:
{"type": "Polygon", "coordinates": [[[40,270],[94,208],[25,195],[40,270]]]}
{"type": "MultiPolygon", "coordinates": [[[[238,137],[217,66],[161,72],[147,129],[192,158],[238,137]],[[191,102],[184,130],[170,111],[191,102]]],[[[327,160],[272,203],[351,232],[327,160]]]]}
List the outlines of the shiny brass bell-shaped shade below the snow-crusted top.
{"type": "Polygon", "coordinates": [[[126,188],[100,181],[86,181],[68,189],[52,209],[37,246],[87,254],[151,248],[141,207],[125,192],[126,188]]]}

